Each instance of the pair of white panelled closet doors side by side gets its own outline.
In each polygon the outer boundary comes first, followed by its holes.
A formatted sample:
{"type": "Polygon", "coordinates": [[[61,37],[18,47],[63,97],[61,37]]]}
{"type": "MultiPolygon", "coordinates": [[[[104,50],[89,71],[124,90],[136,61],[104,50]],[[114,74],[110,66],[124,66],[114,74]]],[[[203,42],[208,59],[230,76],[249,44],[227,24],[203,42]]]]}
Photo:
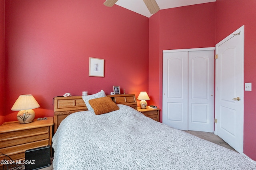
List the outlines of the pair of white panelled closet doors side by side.
{"type": "Polygon", "coordinates": [[[180,130],[213,132],[213,59],[212,48],[164,51],[164,124],[180,130]]]}

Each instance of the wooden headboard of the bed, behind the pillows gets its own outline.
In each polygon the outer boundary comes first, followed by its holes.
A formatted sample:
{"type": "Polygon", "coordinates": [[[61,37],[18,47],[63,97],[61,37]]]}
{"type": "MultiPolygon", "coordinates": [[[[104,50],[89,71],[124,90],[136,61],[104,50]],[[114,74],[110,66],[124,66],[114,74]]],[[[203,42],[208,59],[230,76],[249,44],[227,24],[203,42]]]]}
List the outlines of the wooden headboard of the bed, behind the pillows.
{"type": "MultiPolygon", "coordinates": [[[[134,94],[107,95],[116,104],[124,104],[137,110],[137,101],[134,94]]],[[[68,96],[54,98],[54,133],[58,129],[60,122],[68,115],[88,110],[82,96],[68,96]]]]}

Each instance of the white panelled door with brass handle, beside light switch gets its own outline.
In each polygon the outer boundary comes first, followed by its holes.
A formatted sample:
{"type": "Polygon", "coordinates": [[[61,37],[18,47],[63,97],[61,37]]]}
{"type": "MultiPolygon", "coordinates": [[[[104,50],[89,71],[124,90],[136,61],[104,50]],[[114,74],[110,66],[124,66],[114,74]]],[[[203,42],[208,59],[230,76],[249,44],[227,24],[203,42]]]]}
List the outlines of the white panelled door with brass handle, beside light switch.
{"type": "Polygon", "coordinates": [[[216,45],[215,134],[243,152],[244,26],[216,45]],[[238,99],[239,98],[239,99],[238,99]]]}

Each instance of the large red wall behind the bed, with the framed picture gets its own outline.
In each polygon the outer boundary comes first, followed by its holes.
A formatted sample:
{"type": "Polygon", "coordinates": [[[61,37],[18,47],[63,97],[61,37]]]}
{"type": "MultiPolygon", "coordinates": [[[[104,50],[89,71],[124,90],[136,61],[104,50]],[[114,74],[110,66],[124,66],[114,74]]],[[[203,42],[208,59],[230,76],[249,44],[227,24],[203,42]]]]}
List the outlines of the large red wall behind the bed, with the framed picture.
{"type": "Polygon", "coordinates": [[[104,2],[5,1],[5,121],[16,120],[20,94],[32,94],[36,117],[47,117],[66,92],[148,91],[149,19],[104,2]],[[105,59],[104,78],[88,76],[89,57],[105,59]]]}

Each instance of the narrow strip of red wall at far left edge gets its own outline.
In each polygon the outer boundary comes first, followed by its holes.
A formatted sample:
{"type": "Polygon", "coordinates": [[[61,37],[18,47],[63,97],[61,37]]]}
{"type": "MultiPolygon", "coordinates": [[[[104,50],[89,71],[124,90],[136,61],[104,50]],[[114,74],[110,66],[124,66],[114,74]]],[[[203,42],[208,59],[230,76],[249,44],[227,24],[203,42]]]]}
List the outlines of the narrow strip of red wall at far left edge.
{"type": "Polygon", "coordinates": [[[4,0],[0,0],[0,125],[4,123],[4,0]]]}

